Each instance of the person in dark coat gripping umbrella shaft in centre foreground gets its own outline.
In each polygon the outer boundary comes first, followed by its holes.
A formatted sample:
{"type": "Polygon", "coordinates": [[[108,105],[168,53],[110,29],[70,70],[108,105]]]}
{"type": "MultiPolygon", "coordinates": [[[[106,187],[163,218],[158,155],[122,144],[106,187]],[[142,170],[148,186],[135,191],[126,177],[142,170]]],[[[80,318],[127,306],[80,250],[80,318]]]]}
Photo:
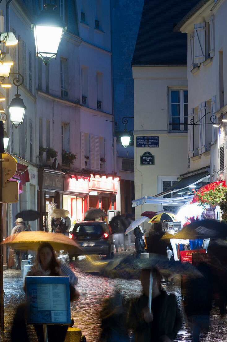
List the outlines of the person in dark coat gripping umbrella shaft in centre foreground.
{"type": "Polygon", "coordinates": [[[152,270],[151,312],[148,307],[149,269],[141,271],[143,288],[141,297],[133,299],[129,306],[127,327],[134,329],[135,342],[171,342],[181,328],[181,314],[174,294],[161,290],[161,274],[152,270]]]}

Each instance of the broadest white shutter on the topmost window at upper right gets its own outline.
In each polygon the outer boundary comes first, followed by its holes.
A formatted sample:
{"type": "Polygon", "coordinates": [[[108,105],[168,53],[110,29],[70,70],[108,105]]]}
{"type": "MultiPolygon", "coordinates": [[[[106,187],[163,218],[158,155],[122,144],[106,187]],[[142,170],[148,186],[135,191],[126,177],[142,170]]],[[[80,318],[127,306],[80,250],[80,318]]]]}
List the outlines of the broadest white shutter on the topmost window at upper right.
{"type": "Polygon", "coordinates": [[[194,62],[198,64],[205,61],[205,26],[206,23],[194,25],[194,62]]]}

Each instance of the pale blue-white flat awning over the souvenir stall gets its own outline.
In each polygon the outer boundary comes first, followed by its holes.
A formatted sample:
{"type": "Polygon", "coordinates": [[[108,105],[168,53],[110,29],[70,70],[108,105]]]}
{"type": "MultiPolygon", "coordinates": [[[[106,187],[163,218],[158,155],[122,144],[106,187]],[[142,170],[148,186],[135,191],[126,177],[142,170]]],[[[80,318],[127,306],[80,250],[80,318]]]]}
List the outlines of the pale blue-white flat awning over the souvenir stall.
{"type": "Polygon", "coordinates": [[[182,204],[189,200],[192,200],[194,195],[175,197],[175,198],[156,198],[145,196],[132,201],[132,207],[141,206],[142,204],[155,204],[163,206],[176,206],[177,204],[182,204]]]}

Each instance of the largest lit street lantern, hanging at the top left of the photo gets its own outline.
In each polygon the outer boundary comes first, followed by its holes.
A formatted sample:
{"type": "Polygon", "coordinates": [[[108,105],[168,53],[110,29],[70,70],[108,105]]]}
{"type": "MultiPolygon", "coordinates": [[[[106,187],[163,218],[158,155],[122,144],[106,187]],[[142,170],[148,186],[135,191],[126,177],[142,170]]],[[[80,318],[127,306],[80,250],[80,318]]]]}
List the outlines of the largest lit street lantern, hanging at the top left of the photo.
{"type": "Polygon", "coordinates": [[[45,65],[51,58],[56,58],[60,41],[67,29],[59,13],[54,11],[55,8],[55,4],[45,4],[44,10],[31,26],[31,30],[34,30],[36,57],[41,57],[45,65]]]}

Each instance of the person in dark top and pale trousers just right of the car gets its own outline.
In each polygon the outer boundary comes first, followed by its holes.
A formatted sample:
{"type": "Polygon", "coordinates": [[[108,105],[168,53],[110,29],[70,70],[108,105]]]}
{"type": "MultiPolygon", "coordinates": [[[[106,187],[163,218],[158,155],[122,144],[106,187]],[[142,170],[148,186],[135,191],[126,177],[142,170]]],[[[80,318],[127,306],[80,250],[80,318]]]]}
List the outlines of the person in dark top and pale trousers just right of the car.
{"type": "Polygon", "coordinates": [[[113,239],[115,240],[116,252],[118,252],[119,245],[124,245],[124,232],[127,229],[126,220],[123,219],[120,214],[120,211],[118,211],[117,215],[113,216],[112,220],[110,221],[113,239]]]}

